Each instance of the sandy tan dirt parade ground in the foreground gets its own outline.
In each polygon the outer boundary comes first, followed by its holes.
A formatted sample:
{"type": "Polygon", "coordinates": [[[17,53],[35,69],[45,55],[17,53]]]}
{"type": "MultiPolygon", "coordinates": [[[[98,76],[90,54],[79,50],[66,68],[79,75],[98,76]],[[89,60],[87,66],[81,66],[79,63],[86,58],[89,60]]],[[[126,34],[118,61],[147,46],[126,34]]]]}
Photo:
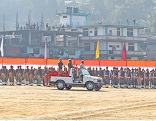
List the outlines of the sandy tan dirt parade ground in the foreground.
{"type": "Polygon", "coordinates": [[[156,90],[0,86],[0,120],[156,120],[156,90]]]}

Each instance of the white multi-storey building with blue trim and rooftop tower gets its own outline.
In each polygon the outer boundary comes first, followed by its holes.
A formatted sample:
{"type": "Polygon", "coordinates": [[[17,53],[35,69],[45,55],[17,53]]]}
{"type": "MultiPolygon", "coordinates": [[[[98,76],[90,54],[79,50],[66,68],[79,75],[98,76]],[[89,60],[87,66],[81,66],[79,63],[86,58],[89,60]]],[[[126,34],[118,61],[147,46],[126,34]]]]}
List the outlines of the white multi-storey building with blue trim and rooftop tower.
{"type": "MultiPolygon", "coordinates": [[[[123,43],[126,43],[127,59],[138,60],[146,56],[139,43],[147,41],[141,37],[140,32],[145,27],[135,21],[126,24],[106,24],[101,21],[91,24],[88,21],[89,13],[78,8],[67,7],[66,10],[57,11],[60,24],[65,26],[65,31],[80,31],[79,37],[67,37],[68,47],[78,47],[79,56],[84,59],[95,59],[97,41],[100,40],[100,59],[121,60],[123,43]]],[[[77,55],[78,56],[78,55],[77,55]]],[[[77,57],[78,58],[78,57],[77,57]]]]}

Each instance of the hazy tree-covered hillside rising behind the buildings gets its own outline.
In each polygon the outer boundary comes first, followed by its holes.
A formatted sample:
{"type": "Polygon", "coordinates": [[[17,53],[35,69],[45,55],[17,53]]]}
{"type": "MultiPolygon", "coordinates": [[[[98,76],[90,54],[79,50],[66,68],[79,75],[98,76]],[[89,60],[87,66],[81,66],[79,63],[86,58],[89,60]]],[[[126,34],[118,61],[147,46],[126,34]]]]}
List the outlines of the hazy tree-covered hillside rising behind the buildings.
{"type": "MultiPolygon", "coordinates": [[[[126,22],[127,19],[142,20],[147,26],[156,24],[156,0],[77,0],[78,7],[91,13],[90,21],[106,21],[117,23],[126,22]]],[[[16,12],[19,13],[20,25],[27,22],[29,10],[33,22],[40,22],[41,14],[44,21],[55,24],[58,22],[56,10],[64,9],[64,0],[1,0],[0,23],[3,23],[2,15],[5,13],[6,28],[15,28],[16,12]],[[8,7],[9,6],[9,7],[8,7]]],[[[0,24],[0,29],[2,29],[0,24]]]]}

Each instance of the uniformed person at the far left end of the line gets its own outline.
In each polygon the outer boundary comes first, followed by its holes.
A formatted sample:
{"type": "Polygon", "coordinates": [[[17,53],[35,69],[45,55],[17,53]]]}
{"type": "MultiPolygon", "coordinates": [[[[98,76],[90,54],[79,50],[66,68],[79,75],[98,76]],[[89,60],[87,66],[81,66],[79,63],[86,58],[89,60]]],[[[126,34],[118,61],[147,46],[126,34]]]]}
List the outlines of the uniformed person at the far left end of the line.
{"type": "Polygon", "coordinates": [[[7,69],[6,66],[2,67],[1,70],[1,79],[2,79],[2,85],[7,85],[8,77],[7,77],[7,69]]]}

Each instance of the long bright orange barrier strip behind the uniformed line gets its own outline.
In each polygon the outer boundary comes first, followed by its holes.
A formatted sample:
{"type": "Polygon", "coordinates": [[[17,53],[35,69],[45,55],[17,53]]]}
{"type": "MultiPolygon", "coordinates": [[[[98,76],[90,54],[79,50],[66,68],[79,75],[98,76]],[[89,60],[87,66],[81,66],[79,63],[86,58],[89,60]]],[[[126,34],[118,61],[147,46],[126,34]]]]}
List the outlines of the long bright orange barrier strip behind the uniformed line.
{"type": "MultiPolygon", "coordinates": [[[[68,64],[68,60],[62,60],[64,65],[68,64]]],[[[39,59],[39,58],[0,58],[1,65],[47,65],[56,66],[58,59],[39,59]]],[[[80,65],[81,60],[73,60],[74,65],[80,65]]],[[[122,60],[85,60],[85,66],[95,67],[156,67],[156,61],[122,61],[122,60]]]]}

